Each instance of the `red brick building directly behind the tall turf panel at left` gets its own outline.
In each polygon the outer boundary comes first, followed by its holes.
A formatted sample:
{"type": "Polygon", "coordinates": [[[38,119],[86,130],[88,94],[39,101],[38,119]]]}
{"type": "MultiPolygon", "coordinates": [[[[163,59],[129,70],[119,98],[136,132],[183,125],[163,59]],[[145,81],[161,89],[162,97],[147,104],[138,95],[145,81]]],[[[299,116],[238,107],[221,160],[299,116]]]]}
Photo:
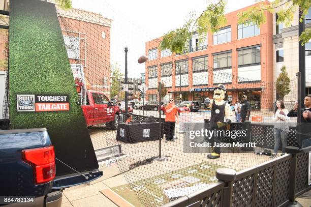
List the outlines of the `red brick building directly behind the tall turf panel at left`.
{"type": "Polygon", "coordinates": [[[91,90],[110,99],[110,27],[101,14],[57,7],[60,27],[73,70],[83,67],[91,90]]]}

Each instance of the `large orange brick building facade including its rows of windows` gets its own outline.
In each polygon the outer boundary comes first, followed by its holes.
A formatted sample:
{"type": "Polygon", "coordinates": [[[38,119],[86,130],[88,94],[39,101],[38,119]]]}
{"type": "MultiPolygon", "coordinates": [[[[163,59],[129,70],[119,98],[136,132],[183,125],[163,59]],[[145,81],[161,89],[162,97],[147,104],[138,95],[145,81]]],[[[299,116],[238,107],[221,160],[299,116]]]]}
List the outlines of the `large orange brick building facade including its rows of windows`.
{"type": "MultiPolygon", "coordinates": [[[[254,6],[254,5],[253,5],[254,6]]],[[[252,7],[252,6],[250,6],[252,7]]],[[[189,41],[189,53],[176,55],[160,51],[162,38],[146,42],[147,99],[157,99],[158,82],[168,90],[164,101],[203,101],[212,99],[212,90],[223,83],[228,100],[235,102],[247,95],[253,109],[273,107],[273,45],[272,14],[265,12],[266,22],[239,25],[237,13],[226,14],[227,25],[203,41],[194,34],[189,41]]]]}

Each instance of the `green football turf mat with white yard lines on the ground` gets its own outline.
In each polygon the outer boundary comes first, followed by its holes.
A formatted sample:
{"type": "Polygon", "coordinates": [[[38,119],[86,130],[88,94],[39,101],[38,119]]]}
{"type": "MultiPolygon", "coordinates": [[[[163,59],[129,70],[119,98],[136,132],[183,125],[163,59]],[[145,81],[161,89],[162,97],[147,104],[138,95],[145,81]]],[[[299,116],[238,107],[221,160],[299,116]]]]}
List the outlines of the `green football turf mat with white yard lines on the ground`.
{"type": "Polygon", "coordinates": [[[134,206],[161,206],[216,182],[215,171],[220,167],[223,166],[202,162],[111,190],[134,206]]]}

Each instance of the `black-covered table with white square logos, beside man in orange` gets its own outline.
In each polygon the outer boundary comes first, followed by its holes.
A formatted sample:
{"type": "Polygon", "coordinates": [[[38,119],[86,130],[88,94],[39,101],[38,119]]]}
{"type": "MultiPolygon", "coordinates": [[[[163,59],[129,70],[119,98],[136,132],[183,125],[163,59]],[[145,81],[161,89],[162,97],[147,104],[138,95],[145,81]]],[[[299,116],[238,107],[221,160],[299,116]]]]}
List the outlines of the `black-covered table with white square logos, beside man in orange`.
{"type": "Polygon", "coordinates": [[[159,140],[160,123],[119,123],[116,140],[125,143],[159,140]]]}

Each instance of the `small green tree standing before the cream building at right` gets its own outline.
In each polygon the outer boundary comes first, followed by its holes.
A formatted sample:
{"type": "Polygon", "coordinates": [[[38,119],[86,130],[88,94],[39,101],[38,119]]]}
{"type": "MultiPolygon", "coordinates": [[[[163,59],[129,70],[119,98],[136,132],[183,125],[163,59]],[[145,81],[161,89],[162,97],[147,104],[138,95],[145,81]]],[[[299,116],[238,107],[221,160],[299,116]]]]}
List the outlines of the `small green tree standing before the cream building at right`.
{"type": "Polygon", "coordinates": [[[284,97],[291,92],[290,90],[290,78],[287,75],[286,67],[282,66],[281,73],[276,79],[276,94],[278,99],[284,100],[284,97]]]}

